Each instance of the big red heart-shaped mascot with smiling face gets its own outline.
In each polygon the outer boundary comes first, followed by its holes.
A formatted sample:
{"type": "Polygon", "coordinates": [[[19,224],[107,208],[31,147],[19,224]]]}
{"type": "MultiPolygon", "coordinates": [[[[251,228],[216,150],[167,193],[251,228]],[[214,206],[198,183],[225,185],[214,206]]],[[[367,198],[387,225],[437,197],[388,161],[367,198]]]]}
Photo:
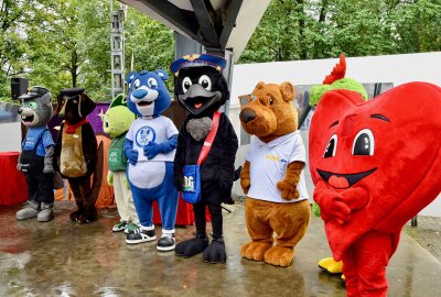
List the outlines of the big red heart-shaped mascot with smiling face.
{"type": "Polygon", "coordinates": [[[386,296],[402,227],[441,190],[441,88],[409,82],[365,101],[329,90],[310,130],[310,169],[347,296],[386,296]]]}

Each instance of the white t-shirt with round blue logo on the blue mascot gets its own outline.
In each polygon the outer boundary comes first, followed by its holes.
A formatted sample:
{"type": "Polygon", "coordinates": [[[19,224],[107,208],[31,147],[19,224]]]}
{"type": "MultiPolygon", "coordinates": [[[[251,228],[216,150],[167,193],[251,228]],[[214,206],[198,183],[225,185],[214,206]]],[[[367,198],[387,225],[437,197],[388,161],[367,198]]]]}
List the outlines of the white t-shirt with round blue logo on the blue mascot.
{"type": "Polygon", "coordinates": [[[138,118],[137,120],[135,120],[129,129],[129,132],[127,132],[126,139],[132,141],[133,148],[138,150],[138,162],[173,162],[176,150],[173,150],[166,154],[158,154],[153,158],[148,160],[147,156],[144,156],[143,147],[150,141],[162,143],[176,134],[178,129],[172,120],[166,117],[159,116],[158,118],[152,119],[138,118]]]}

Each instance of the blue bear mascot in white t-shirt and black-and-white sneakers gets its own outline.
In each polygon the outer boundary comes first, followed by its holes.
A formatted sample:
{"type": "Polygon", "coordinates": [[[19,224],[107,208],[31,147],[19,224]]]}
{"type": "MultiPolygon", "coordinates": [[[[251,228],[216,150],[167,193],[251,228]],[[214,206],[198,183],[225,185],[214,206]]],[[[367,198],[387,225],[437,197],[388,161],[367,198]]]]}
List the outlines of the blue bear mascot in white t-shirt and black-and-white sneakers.
{"type": "Polygon", "coordinates": [[[158,202],[162,218],[162,235],[158,251],[175,246],[178,191],[173,185],[173,160],[178,145],[178,129],[161,116],[171,97],[164,70],[131,72],[127,75],[129,95],[127,106],[138,119],[126,135],[123,152],[129,161],[127,177],[141,227],[127,234],[126,242],[141,243],[155,240],[152,202],[158,202]]]}

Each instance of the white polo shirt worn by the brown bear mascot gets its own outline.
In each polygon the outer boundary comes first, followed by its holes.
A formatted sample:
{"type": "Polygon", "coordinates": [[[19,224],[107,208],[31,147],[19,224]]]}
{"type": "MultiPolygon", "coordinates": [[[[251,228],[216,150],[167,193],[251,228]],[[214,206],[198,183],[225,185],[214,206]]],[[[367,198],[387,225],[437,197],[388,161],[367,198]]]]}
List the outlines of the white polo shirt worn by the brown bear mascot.
{"type": "Polygon", "coordinates": [[[306,162],[306,153],[300,131],[278,138],[265,143],[257,136],[251,136],[247,155],[250,163],[251,187],[248,197],[272,202],[299,202],[309,199],[303,170],[297,188],[299,199],[286,200],[277,188],[277,183],[284,178],[287,167],[294,161],[306,162]]]}

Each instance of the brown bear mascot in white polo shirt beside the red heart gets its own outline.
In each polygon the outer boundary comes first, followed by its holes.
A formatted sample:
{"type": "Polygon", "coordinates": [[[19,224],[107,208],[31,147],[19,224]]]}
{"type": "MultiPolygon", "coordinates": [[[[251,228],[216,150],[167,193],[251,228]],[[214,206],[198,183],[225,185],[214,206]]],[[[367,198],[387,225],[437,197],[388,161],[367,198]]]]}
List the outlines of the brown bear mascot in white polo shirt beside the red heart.
{"type": "Polygon", "coordinates": [[[241,125],[254,135],[240,174],[251,241],[240,253],[276,266],[291,264],[311,216],[302,178],[305,150],[293,98],[290,82],[259,82],[251,95],[239,98],[241,125]]]}

